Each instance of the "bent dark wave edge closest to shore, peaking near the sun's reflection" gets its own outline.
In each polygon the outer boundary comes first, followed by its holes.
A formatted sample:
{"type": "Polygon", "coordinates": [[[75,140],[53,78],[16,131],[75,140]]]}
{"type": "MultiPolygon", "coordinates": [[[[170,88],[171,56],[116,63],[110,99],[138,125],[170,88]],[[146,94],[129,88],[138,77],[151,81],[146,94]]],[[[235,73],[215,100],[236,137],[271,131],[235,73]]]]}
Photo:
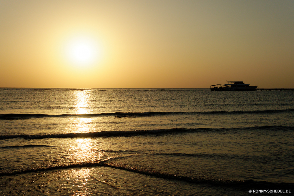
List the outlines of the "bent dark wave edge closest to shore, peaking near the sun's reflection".
{"type": "Polygon", "coordinates": [[[237,186],[237,187],[279,187],[279,189],[288,189],[289,187],[293,187],[294,183],[285,183],[285,182],[266,182],[266,181],[255,181],[255,180],[229,180],[229,179],[217,179],[217,178],[208,178],[208,177],[190,177],[186,175],[175,175],[169,174],[165,172],[158,172],[153,170],[148,170],[144,168],[130,167],[119,165],[116,163],[112,163],[109,159],[99,160],[97,162],[82,162],[82,163],[69,163],[65,165],[56,165],[56,166],[47,166],[47,167],[39,167],[33,169],[22,169],[22,170],[12,170],[12,171],[2,171],[0,170],[0,176],[11,176],[16,174],[25,174],[30,172],[41,172],[48,170],[61,170],[68,168],[76,168],[76,167],[111,167],[115,169],[125,170],[129,172],[139,173],[147,176],[154,176],[168,180],[179,180],[186,181],[190,183],[201,183],[201,184],[212,184],[212,185],[220,185],[220,186],[237,186]]]}

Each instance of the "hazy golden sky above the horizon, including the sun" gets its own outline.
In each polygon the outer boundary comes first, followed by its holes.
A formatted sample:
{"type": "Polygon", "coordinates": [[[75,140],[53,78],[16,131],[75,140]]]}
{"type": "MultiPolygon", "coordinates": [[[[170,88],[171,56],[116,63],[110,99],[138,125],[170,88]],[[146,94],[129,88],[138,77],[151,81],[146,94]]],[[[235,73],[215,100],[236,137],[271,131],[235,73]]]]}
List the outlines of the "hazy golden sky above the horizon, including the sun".
{"type": "Polygon", "coordinates": [[[0,0],[0,87],[294,88],[294,1],[0,0]]]}

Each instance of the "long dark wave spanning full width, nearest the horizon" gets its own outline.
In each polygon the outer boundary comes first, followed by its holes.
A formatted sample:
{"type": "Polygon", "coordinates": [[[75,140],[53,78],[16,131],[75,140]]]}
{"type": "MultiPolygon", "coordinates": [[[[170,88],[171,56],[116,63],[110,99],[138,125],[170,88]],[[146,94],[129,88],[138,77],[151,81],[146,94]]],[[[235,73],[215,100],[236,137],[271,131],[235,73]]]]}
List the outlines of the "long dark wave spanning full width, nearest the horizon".
{"type": "Polygon", "coordinates": [[[207,112],[112,112],[112,113],[96,113],[96,114],[0,114],[1,120],[10,119],[28,119],[28,118],[44,118],[44,117],[150,117],[164,115],[181,115],[181,114],[270,114],[294,112],[294,109],[279,110],[253,110],[253,111],[207,111],[207,112]]]}

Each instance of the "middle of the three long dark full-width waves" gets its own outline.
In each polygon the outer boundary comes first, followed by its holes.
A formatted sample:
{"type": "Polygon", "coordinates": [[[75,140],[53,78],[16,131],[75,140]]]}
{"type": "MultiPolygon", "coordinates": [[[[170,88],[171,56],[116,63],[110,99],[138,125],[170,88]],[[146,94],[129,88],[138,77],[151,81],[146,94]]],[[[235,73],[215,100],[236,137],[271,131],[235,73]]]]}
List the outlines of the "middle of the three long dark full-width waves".
{"type": "Polygon", "coordinates": [[[259,127],[241,127],[241,128],[172,128],[172,129],[149,129],[149,130],[131,130],[131,131],[101,131],[87,133],[52,133],[52,134],[11,134],[0,135],[0,140],[24,138],[24,139],[44,139],[44,138],[77,138],[77,137],[128,137],[140,135],[159,135],[185,132],[230,132],[242,130],[278,130],[293,131],[293,126],[259,126],[259,127]]]}

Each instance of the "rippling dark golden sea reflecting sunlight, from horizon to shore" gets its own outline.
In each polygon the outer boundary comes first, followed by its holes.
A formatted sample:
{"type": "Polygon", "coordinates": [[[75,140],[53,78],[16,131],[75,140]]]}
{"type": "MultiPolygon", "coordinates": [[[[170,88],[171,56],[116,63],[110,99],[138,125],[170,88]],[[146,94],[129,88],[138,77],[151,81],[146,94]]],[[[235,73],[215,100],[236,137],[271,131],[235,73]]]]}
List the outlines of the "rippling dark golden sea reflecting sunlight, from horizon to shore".
{"type": "Polygon", "coordinates": [[[0,195],[293,195],[294,92],[0,88],[0,195]]]}

